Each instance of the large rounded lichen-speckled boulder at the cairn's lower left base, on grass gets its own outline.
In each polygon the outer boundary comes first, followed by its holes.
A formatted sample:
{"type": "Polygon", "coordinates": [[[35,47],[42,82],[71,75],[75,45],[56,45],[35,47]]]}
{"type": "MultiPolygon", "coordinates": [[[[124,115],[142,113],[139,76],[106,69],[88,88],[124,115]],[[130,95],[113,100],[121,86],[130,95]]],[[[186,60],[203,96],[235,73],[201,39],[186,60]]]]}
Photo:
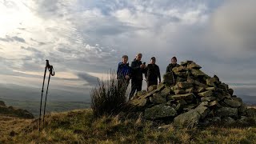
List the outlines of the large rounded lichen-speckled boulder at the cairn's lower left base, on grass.
{"type": "Polygon", "coordinates": [[[159,118],[168,118],[174,117],[177,115],[177,111],[171,107],[166,106],[165,104],[153,106],[145,110],[144,117],[146,119],[159,119],[159,118]]]}

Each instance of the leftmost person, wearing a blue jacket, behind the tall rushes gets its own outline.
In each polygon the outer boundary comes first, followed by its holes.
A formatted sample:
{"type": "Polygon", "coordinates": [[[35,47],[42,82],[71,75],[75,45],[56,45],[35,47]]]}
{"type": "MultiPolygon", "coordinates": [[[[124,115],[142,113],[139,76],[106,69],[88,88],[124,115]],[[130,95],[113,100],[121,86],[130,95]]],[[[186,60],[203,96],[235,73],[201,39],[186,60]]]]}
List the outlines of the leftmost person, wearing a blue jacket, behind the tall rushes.
{"type": "Polygon", "coordinates": [[[118,87],[124,88],[125,91],[130,82],[130,73],[131,73],[131,70],[128,63],[128,56],[123,55],[122,62],[118,63],[117,77],[118,77],[118,87]]]}

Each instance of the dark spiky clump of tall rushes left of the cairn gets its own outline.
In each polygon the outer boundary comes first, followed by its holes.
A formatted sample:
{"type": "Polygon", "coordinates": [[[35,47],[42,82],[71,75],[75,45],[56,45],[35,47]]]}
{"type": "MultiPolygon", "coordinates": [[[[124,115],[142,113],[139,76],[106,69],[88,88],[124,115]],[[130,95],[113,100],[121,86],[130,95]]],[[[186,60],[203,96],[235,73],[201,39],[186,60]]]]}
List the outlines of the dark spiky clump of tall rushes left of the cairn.
{"type": "Polygon", "coordinates": [[[98,86],[90,92],[91,108],[94,116],[118,114],[126,106],[126,82],[118,82],[114,71],[110,79],[98,79],[98,86]]]}

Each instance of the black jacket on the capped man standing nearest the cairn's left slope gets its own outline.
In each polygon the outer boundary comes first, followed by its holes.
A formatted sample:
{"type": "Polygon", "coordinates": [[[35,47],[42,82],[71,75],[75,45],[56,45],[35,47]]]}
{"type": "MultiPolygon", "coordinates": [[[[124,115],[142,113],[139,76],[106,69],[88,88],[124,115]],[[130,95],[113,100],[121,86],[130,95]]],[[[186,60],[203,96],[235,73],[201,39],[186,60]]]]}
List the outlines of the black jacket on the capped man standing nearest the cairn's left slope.
{"type": "Polygon", "coordinates": [[[146,66],[146,73],[145,73],[145,77],[146,77],[146,82],[150,82],[150,81],[161,81],[161,75],[160,75],[160,69],[159,66],[156,64],[148,64],[146,66]]]}

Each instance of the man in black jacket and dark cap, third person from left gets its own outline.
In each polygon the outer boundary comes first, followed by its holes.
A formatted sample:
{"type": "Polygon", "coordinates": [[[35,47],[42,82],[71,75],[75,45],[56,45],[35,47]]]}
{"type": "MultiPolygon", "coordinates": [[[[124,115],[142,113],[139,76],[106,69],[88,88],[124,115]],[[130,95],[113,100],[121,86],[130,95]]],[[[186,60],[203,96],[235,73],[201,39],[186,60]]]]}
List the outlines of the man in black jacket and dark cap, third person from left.
{"type": "Polygon", "coordinates": [[[161,82],[161,75],[160,75],[160,69],[159,66],[155,64],[156,60],[154,57],[151,58],[150,64],[146,66],[146,83],[147,83],[147,89],[152,85],[158,85],[158,78],[159,83],[161,82]]]}

